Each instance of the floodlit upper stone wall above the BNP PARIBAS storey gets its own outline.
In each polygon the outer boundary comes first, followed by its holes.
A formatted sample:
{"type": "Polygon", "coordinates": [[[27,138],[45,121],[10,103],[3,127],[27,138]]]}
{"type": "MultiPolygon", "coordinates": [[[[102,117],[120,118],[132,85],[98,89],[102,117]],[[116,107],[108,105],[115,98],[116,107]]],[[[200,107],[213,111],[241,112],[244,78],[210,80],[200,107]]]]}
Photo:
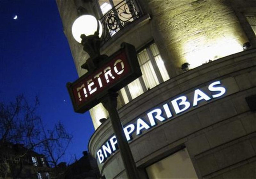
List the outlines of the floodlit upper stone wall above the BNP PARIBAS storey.
{"type": "MultiPolygon", "coordinates": [[[[89,58],[71,34],[71,26],[78,17],[77,9],[84,7],[94,14],[94,1],[56,0],[63,21],[64,33],[69,41],[78,75],[86,73],[80,66],[89,58]]],[[[190,63],[194,68],[209,60],[215,60],[242,51],[248,39],[238,21],[229,0],[138,0],[143,16],[114,35],[101,49],[111,55],[122,42],[131,43],[136,49],[154,40],[170,78],[182,73],[181,65],[190,63]]],[[[250,5],[249,2],[243,6],[250,5]]],[[[245,8],[243,8],[245,9],[245,8]]],[[[96,13],[98,14],[98,13],[96,13]]],[[[250,37],[251,38],[251,37],[250,37]]],[[[118,108],[122,107],[119,99],[118,108]]],[[[90,110],[95,129],[99,119],[107,118],[99,104],[90,110]]]]}

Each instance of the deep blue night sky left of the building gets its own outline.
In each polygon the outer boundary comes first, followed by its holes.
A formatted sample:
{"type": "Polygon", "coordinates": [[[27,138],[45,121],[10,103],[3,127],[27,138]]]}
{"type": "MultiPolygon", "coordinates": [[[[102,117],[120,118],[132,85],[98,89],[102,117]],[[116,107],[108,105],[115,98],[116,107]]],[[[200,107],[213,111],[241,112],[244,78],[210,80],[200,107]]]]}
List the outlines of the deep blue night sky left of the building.
{"type": "Polygon", "coordinates": [[[66,89],[78,75],[55,0],[0,0],[0,18],[0,101],[38,95],[43,123],[61,121],[73,135],[63,160],[79,159],[94,128],[89,112],[73,111],[66,89]]]}

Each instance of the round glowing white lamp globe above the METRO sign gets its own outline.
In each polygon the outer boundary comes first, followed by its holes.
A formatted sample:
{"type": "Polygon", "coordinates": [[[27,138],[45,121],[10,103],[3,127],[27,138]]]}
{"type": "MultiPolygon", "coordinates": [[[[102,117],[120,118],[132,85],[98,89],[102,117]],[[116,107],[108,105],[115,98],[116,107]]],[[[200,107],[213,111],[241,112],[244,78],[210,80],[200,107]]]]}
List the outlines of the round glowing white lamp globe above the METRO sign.
{"type": "Polygon", "coordinates": [[[85,34],[86,36],[94,35],[95,32],[99,33],[99,38],[101,38],[102,35],[102,24],[100,21],[97,21],[97,19],[92,15],[82,15],[78,17],[73,25],[72,25],[72,34],[76,41],[81,43],[81,35],[85,34]],[[98,28],[99,25],[99,28],[98,28]]]}

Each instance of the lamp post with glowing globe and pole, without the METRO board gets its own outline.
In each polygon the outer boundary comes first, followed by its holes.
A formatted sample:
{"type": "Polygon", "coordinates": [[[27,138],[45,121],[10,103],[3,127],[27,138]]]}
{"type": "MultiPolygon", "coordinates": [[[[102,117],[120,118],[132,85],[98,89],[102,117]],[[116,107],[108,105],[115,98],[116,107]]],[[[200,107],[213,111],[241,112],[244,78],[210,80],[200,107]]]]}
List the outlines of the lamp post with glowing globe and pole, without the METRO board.
{"type": "MultiPolygon", "coordinates": [[[[94,72],[104,59],[107,58],[106,55],[101,55],[99,51],[102,31],[101,22],[91,15],[82,15],[73,23],[72,34],[74,39],[83,45],[83,50],[90,56],[87,62],[81,66],[87,69],[88,73],[94,72]]],[[[117,96],[117,92],[108,90],[100,101],[109,112],[112,128],[117,138],[127,176],[129,179],[139,179],[138,170],[118,115],[117,96]]]]}

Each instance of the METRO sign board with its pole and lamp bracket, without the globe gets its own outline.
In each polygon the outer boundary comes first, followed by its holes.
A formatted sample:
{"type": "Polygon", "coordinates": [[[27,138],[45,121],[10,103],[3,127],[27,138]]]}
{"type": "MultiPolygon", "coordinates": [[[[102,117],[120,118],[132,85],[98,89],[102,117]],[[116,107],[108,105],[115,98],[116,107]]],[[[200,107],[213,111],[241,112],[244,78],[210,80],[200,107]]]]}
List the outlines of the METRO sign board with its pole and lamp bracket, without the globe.
{"type": "Polygon", "coordinates": [[[99,39],[85,36],[82,44],[84,50],[89,51],[91,57],[81,66],[88,72],[75,82],[67,83],[74,110],[84,113],[98,103],[103,104],[109,112],[127,177],[139,179],[139,172],[118,115],[118,93],[116,92],[142,75],[135,47],[128,43],[122,43],[120,50],[107,57],[99,54],[99,49],[97,49],[99,48],[99,39]],[[87,47],[97,48],[87,49],[87,47]]]}

